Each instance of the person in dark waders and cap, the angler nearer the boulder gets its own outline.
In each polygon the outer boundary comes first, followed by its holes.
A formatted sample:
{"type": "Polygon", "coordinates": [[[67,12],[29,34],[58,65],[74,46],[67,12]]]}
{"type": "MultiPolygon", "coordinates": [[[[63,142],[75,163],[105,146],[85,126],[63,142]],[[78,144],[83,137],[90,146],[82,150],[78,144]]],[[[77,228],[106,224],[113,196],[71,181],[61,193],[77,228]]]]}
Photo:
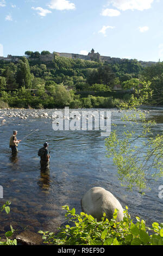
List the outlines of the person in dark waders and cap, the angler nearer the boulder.
{"type": "Polygon", "coordinates": [[[43,148],[39,149],[38,156],[40,156],[41,170],[47,170],[49,168],[50,154],[48,150],[48,143],[43,144],[43,148]]]}

